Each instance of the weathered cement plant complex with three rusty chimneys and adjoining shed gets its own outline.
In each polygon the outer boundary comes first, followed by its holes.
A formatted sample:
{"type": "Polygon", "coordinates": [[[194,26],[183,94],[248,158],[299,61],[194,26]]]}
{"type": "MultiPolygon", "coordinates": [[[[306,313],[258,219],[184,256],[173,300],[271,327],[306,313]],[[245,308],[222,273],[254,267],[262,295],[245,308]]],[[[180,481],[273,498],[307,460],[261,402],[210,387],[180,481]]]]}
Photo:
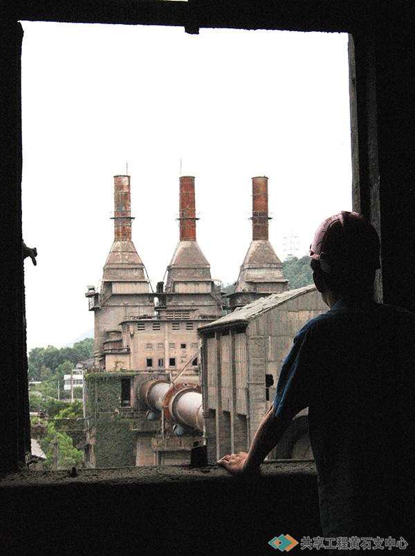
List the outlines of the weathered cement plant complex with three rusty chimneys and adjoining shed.
{"type": "MultiPolygon", "coordinates": [[[[196,241],[194,177],[179,179],[178,244],[156,291],[132,220],[130,176],[115,176],[114,241],[100,290],[86,293],[95,316],[88,465],[188,462],[194,443],[210,461],[246,450],[295,332],[325,311],[313,286],[288,288],[268,239],[268,178],[252,178],[252,242],[227,296],[196,241]]],[[[277,455],[310,456],[306,416],[283,440],[277,455]]]]}

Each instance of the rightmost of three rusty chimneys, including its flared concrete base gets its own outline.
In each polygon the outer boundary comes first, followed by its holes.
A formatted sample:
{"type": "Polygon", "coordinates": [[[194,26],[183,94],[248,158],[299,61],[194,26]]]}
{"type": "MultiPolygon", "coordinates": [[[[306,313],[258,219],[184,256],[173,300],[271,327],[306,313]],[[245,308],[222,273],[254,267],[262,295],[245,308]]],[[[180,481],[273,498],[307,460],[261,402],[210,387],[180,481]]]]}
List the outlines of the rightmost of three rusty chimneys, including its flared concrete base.
{"type": "Polygon", "coordinates": [[[230,308],[288,290],[282,262],[268,241],[268,178],[252,178],[252,241],[241,265],[230,308]]]}

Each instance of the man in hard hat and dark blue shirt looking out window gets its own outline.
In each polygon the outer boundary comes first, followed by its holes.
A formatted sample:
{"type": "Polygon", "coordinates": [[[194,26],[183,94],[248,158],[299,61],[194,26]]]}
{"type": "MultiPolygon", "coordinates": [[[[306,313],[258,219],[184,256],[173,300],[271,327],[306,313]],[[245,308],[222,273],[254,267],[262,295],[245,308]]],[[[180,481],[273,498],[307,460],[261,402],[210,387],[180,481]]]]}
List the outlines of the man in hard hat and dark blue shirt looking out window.
{"type": "Polygon", "coordinates": [[[330,311],[295,337],[248,454],[219,460],[235,474],[257,472],[308,407],[324,537],[412,532],[415,315],[374,302],[379,252],[356,212],[320,225],[308,254],[330,311]]]}

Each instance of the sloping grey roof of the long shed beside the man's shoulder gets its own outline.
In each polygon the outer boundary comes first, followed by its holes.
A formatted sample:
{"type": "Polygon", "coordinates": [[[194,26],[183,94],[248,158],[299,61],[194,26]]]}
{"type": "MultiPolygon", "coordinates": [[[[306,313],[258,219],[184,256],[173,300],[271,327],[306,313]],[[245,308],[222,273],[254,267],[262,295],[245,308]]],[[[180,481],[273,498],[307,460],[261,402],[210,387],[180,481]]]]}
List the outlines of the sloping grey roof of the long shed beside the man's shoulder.
{"type": "Polygon", "coordinates": [[[216,326],[224,326],[225,324],[232,324],[234,322],[246,322],[259,313],[265,313],[270,311],[274,307],[287,302],[289,299],[294,299],[299,295],[304,295],[304,293],[311,292],[315,290],[315,286],[311,284],[310,286],[303,286],[302,288],[297,288],[296,290],[288,290],[282,293],[273,293],[267,297],[261,297],[257,301],[252,302],[248,305],[235,309],[233,313],[225,315],[220,319],[210,322],[205,326],[200,326],[198,330],[207,330],[208,328],[216,328],[216,326]]]}

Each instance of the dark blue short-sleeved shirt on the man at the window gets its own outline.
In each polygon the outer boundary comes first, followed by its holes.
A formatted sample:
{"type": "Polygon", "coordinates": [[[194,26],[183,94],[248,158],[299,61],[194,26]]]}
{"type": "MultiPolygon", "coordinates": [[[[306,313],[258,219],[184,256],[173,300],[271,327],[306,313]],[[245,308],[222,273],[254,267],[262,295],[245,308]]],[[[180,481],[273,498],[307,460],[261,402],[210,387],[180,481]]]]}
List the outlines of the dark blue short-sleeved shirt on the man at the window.
{"type": "Polygon", "coordinates": [[[295,337],[274,407],[308,407],[324,536],[399,539],[412,524],[414,369],[415,315],[400,308],[340,301],[295,337]]]}

